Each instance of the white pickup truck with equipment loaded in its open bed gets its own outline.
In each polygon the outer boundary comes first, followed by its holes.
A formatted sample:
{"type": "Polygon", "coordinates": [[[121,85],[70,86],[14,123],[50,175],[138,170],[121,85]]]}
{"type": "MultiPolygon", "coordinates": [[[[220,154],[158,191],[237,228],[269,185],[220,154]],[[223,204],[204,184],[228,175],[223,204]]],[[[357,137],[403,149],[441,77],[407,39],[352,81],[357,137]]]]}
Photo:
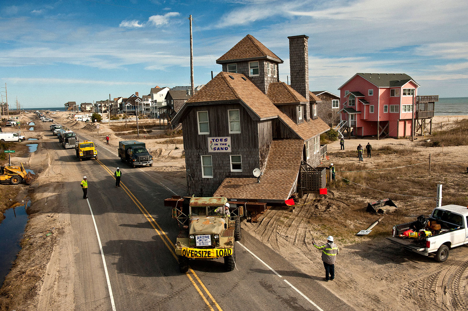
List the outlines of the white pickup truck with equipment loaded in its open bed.
{"type": "Polygon", "coordinates": [[[467,223],[467,207],[454,204],[444,205],[435,208],[429,218],[420,218],[411,223],[395,225],[393,237],[387,239],[393,244],[421,255],[434,255],[436,261],[444,262],[448,258],[450,248],[468,243],[467,223]],[[434,228],[439,230],[434,230],[434,228]],[[410,239],[403,234],[408,230],[424,231],[420,233],[419,238],[410,239]]]}

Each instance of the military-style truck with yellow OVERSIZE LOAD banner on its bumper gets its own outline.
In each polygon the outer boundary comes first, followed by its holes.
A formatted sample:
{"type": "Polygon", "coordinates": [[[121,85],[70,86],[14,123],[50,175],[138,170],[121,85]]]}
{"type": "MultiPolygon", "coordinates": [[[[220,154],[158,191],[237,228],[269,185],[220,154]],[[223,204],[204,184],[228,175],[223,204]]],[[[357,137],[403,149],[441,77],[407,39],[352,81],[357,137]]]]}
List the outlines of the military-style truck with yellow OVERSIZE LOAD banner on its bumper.
{"type": "Polygon", "coordinates": [[[227,271],[234,270],[234,241],[241,239],[243,207],[226,211],[226,203],[225,197],[173,196],[164,200],[164,206],[172,207],[172,218],[179,224],[175,253],[181,273],[188,271],[189,260],[220,257],[224,258],[227,271]]]}

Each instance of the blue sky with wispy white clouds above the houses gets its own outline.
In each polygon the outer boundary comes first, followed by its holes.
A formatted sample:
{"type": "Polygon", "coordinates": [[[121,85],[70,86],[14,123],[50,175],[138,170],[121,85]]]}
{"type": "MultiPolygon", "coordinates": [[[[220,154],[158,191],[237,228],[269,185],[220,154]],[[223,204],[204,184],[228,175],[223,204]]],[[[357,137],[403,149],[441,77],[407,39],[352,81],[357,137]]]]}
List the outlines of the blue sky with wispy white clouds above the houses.
{"type": "Polygon", "coordinates": [[[312,91],[356,72],[406,73],[418,94],[468,96],[468,1],[75,0],[0,2],[0,94],[15,107],[63,107],[151,87],[195,85],[250,34],[284,64],[287,36],[309,36],[312,91]]]}

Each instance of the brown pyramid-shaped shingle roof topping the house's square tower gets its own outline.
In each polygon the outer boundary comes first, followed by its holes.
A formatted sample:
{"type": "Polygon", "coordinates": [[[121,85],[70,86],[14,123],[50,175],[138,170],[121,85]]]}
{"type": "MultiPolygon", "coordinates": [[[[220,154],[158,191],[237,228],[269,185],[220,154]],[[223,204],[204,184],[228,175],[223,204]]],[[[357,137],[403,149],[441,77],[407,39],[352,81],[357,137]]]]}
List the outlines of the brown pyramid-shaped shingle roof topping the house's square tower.
{"type": "Polygon", "coordinates": [[[270,51],[266,46],[264,46],[260,41],[251,35],[245,36],[241,41],[234,45],[231,50],[227,51],[223,56],[218,58],[216,63],[222,64],[230,60],[245,58],[269,58],[271,60],[276,60],[279,64],[283,63],[281,58],[276,56],[275,53],[270,51]]]}

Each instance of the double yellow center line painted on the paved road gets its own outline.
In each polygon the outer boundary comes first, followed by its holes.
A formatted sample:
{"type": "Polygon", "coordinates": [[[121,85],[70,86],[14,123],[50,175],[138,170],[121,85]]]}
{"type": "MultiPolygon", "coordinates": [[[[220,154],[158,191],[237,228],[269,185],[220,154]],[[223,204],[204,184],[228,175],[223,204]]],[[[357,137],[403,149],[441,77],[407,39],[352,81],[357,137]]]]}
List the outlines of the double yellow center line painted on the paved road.
{"type": "MultiPolygon", "coordinates": [[[[107,167],[105,166],[104,164],[102,164],[101,161],[99,161],[98,159],[96,159],[96,161],[112,176],[112,178],[115,179],[115,176],[114,176],[114,173],[107,167]]],[[[129,188],[127,188],[125,186],[125,184],[123,182],[120,183],[122,185],[122,187],[124,188],[124,191],[125,193],[130,197],[130,199],[133,201],[133,203],[135,203],[135,205],[138,207],[138,209],[140,210],[140,212],[143,214],[143,216],[145,216],[145,218],[148,220],[148,222],[151,224],[151,226],[153,227],[153,229],[156,231],[156,233],[158,234],[158,236],[161,238],[161,240],[164,242],[164,244],[166,245],[166,247],[168,248],[168,250],[171,252],[172,256],[174,256],[174,258],[176,260],[178,260],[177,258],[177,255],[176,253],[174,253],[174,250],[173,250],[173,247],[169,246],[170,245],[173,245],[172,241],[169,239],[169,237],[167,236],[166,232],[164,232],[161,228],[161,226],[154,220],[153,216],[151,216],[151,214],[146,210],[146,208],[143,206],[143,204],[141,204],[141,202],[139,202],[139,200],[136,198],[135,195],[133,195],[132,191],[130,191],[129,188]],[[159,228],[159,230],[156,228],[156,226],[159,228]],[[169,244],[168,244],[169,243],[169,244]]],[[[219,304],[216,302],[216,300],[214,299],[214,297],[211,295],[211,293],[208,291],[208,289],[205,287],[205,284],[203,284],[203,282],[200,280],[200,278],[198,277],[198,275],[195,273],[195,271],[193,271],[192,268],[189,269],[190,270],[190,273],[195,277],[195,279],[198,281],[198,283],[201,285],[201,287],[205,290],[206,294],[208,295],[208,297],[210,297],[210,299],[212,300],[213,304],[216,306],[216,308],[219,310],[219,311],[222,311],[221,307],[219,306],[219,304]]],[[[213,307],[211,306],[210,302],[206,299],[205,295],[203,294],[203,292],[200,290],[200,288],[197,286],[197,283],[195,282],[195,280],[190,276],[190,273],[189,272],[186,272],[185,275],[188,276],[188,278],[190,279],[190,282],[192,282],[193,286],[195,287],[195,289],[197,290],[198,294],[200,294],[200,296],[203,298],[203,300],[205,301],[206,305],[208,305],[208,307],[210,308],[211,311],[214,311],[213,307]]]]}

